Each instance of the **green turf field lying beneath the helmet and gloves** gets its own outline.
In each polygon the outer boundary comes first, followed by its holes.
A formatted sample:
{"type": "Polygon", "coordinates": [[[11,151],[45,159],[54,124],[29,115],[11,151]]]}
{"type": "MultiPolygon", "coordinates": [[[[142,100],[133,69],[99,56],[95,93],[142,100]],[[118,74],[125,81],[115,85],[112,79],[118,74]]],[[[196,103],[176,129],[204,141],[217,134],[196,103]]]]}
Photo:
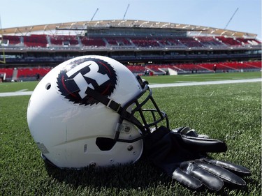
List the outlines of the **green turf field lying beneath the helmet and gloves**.
{"type": "MultiPolygon", "coordinates": [[[[161,81],[156,83],[165,83],[161,81]]],[[[3,83],[0,91],[31,91],[36,84],[3,83]]],[[[153,89],[153,96],[168,114],[171,128],[191,126],[224,140],[228,151],[210,156],[251,169],[247,188],[193,193],[144,157],[134,165],[99,171],[45,165],[27,128],[29,96],[14,96],[0,97],[0,195],[261,195],[261,82],[153,89]]]]}

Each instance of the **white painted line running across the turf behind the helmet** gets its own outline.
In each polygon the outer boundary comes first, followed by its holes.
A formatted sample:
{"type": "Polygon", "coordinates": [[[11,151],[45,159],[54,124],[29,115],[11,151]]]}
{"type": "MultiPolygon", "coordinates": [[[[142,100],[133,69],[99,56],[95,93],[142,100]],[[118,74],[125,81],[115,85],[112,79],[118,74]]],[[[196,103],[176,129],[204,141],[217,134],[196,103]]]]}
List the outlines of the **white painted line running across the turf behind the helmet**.
{"type": "MultiPolygon", "coordinates": [[[[172,84],[150,84],[150,88],[163,88],[173,86],[198,86],[198,85],[210,85],[210,84],[235,84],[246,82],[261,82],[261,78],[247,79],[247,80],[221,80],[221,81],[207,81],[207,82],[184,82],[184,83],[172,83],[172,84]]],[[[33,91],[17,91],[9,93],[0,93],[0,97],[9,96],[31,96],[33,91]]],[[[212,96],[212,95],[211,95],[212,96]]]]}

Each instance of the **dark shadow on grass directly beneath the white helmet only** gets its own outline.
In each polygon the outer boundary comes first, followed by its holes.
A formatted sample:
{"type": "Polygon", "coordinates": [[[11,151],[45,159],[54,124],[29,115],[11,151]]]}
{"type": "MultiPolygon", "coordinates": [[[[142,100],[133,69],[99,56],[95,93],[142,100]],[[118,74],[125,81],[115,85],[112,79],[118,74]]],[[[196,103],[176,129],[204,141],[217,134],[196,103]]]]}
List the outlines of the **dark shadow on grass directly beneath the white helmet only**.
{"type": "Polygon", "coordinates": [[[45,167],[48,174],[57,181],[71,184],[75,188],[92,186],[96,188],[144,189],[159,184],[170,186],[171,182],[169,176],[145,158],[141,158],[132,165],[118,165],[107,168],[59,169],[49,163],[45,163],[45,167]]]}

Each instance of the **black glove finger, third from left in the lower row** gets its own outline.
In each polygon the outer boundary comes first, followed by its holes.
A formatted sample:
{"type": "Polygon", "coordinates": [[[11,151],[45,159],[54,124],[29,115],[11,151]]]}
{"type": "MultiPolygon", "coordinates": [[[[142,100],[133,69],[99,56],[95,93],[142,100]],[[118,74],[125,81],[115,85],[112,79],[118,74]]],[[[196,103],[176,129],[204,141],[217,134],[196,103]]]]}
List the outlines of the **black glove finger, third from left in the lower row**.
{"type": "Polygon", "coordinates": [[[240,176],[237,176],[236,174],[228,171],[227,169],[224,169],[224,167],[206,163],[203,159],[195,160],[195,163],[196,165],[198,165],[198,167],[201,167],[202,169],[205,169],[205,171],[218,176],[220,179],[223,179],[231,186],[244,188],[246,185],[246,182],[243,179],[241,179],[240,176]]]}

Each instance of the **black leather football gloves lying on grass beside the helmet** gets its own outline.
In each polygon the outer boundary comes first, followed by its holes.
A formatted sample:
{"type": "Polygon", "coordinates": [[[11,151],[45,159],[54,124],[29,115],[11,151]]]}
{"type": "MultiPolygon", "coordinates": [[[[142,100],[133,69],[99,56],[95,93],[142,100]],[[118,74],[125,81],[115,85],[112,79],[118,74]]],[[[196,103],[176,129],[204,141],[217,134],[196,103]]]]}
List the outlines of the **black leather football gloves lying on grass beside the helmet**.
{"type": "Polygon", "coordinates": [[[219,191],[224,183],[231,188],[244,188],[242,176],[251,175],[240,165],[209,159],[208,152],[225,152],[226,144],[198,135],[188,127],[170,130],[162,126],[146,137],[144,144],[154,165],[191,190],[200,190],[204,185],[219,191]]]}

